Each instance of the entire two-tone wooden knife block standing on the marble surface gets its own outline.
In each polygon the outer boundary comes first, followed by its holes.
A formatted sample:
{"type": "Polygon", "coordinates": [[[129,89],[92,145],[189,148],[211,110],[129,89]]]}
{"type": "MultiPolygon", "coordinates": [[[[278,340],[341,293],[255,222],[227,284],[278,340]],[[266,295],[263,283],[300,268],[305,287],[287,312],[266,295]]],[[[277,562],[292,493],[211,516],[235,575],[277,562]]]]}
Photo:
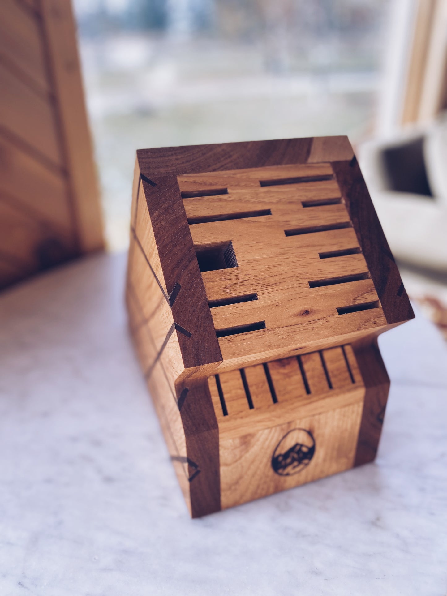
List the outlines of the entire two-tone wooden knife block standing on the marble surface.
{"type": "Polygon", "coordinates": [[[414,314],[346,137],[137,151],[126,299],[193,517],[374,459],[414,314]]]}

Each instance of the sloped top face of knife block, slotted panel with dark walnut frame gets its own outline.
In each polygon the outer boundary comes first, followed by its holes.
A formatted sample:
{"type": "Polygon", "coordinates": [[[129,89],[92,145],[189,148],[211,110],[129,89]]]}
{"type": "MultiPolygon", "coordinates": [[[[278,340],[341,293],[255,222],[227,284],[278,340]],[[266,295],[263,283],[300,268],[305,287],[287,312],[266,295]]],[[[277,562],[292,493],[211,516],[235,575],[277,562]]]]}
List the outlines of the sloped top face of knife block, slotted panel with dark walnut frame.
{"type": "Polygon", "coordinates": [[[346,137],[137,157],[185,368],[284,358],[412,318],[346,137]]]}

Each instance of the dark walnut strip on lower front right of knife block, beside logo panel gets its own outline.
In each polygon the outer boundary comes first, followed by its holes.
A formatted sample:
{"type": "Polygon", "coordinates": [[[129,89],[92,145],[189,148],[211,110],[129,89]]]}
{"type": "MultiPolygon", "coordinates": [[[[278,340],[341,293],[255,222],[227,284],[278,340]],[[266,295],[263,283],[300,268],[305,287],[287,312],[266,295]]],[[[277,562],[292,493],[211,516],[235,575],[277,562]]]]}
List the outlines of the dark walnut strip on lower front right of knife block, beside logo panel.
{"type": "Polygon", "coordinates": [[[365,401],[354,465],[373,461],[382,432],[383,417],[390,389],[390,380],[377,345],[352,346],[365,383],[365,401]]]}

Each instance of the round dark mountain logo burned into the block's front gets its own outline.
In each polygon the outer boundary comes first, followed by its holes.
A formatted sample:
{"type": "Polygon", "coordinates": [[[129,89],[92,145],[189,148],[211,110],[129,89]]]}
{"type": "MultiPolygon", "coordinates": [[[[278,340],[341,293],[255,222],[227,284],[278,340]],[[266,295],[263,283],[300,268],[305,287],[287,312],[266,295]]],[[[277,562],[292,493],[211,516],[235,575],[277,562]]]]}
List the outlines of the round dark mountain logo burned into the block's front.
{"type": "Polygon", "coordinates": [[[315,439],[310,430],[289,430],[273,452],[273,471],[280,476],[297,474],[311,462],[314,454],[315,439]]]}

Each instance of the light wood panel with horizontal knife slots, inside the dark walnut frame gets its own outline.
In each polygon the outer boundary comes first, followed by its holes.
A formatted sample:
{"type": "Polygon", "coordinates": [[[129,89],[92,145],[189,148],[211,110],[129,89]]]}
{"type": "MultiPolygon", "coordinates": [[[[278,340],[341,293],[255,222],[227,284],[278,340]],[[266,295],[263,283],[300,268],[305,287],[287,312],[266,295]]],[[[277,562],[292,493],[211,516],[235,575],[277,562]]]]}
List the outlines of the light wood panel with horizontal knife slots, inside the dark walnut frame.
{"type": "MultiPolygon", "coordinates": [[[[235,198],[235,189],[244,190],[247,187],[252,193],[266,188],[287,189],[275,195],[276,202],[271,204],[270,215],[247,217],[243,213],[239,218],[222,221],[190,221],[191,236],[197,249],[206,250],[207,246],[215,243],[231,241],[237,259],[237,268],[203,272],[207,298],[225,300],[228,296],[237,296],[237,293],[240,296],[250,292],[257,293],[257,300],[212,309],[216,330],[222,335],[219,337],[224,355],[222,370],[229,366],[247,364],[246,358],[249,355],[259,361],[261,351],[265,358],[266,339],[272,342],[273,337],[280,337],[279,334],[271,333],[272,330],[288,328],[289,333],[283,333],[283,337],[287,337],[287,343],[290,343],[291,337],[296,336],[300,342],[309,346],[306,332],[309,331],[310,339],[315,328],[320,325],[326,335],[333,333],[339,336],[358,332],[360,328],[355,328],[358,321],[361,321],[362,329],[367,322],[370,322],[371,327],[380,327],[386,323],[374,284],[367,279],[370,275],[368,265],[360,252],[343,202],[333,204],[329,200],[330,204],[303,207],[299,200],[292,203],[289,201],[290,187],[296,187],[299,195],[299,188],[306,184],[327,184],[327,180],[315,181],[315,177],[331,176],[331,172],[330,164],[315,164],[314,181],[302,184],[296,183],[296,176],[309,176],[308,166],[280,166],[178,177],[180,188],[187,188],[183,191],[187,193],[183,201],[187,215],[191,214],[191,211],[188,212],[188,201],[195,201],[194,216],[191,216],[194,218],[201,216],[199,200],[203,202],[204,198],[208,198],[210,204],[213,203],[212,196],[187,198],[188,193],[194,193],[194,188],[200,193],[211,192],[206,190],[207,185],[210,188],[212,185],[215,188],[231,188],[231,194],[219,195],[221,202],[225,197],[226,213],[230,214],[241,208],[235,198]],[[273,186],[260,187],[260,180],[269,181],[263,184],[273,186]],[[278,180],[285,180],[288,184],[275,186],[275,181],[278,180]],[[291,181],[293,184],[289,184],[291,181]],[[341,229],[325,229],[340,225],[341,229]],[[299,233],[300,231],[306,233],[299,233]],[[335,252],[335,256],[331,256],[331,252],[335,252]],[[231,286],[228,284],[229,280],[231,286]],[[363,305],[371,305],[371,308],[374,306],[374,311],[379,312],[374,312],[372,316],[369,314],[358,317],[350,316],[352,313],[340,316],[337,311],[337,308],[358,311],[363,305]],[[238,334],[237,337],[226,337],[227,328],[251,324],[265,324],[266,329],[247,330],[247,333],[241,329],[241,336],[238,334]],[[247,341],[249,334],[250,340],[247,341]],[[240,342],[239,339],[244,341],[240,342]],[[231,364],[225,362],[227,358],[231,364]]],[[[340,196],[340,191],[334,194],[336,197],[340,196]]],[[[261,204],[265,207],[267,203],[261,204]]],[[[224,218],[225,212],[221,215],[224,218]]],[[[204,215],[205,219],[207,216],[210,216],[209,210],[204,215]]],[[[284,348],[284,345],[278,344],[277,352],[270,353],[279,354],[284,348]]]]}

